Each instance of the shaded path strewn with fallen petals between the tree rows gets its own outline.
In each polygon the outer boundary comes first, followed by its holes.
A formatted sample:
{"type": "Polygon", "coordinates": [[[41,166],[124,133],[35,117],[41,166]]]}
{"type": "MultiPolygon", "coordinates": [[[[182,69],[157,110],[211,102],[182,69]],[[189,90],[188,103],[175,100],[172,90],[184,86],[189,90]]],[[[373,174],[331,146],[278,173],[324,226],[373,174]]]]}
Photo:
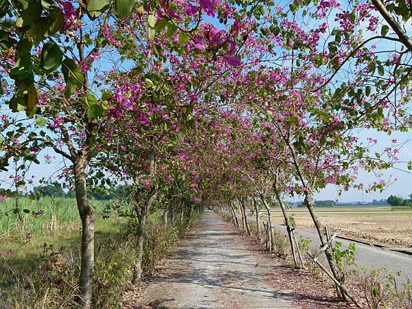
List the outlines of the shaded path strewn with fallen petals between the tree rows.
{"type": "Polygon", "coordinates": [[[266,274],[273,268],[212,211],[201,216],[166,268],[137,308],[297,308],[269,286],[266,274]]]}

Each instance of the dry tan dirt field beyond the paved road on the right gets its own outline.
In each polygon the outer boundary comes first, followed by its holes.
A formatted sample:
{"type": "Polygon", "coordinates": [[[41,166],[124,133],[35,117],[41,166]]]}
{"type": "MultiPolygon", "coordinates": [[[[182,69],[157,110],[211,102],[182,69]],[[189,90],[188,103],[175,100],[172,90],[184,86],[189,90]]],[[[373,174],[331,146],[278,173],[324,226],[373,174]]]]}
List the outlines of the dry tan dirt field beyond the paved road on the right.
{"type": "MultiPolygon", "coordinates": [[[[307,209],[290,209],[297,227],[314,229],[307,209]]],[[[342,236],[389,247],[412,247],[412,211],[391,211],[390,207],[318,208],[322,225],[342,236]]],[[[283,223],[280,211],[273,211],[273,221],[283,223]]]]}

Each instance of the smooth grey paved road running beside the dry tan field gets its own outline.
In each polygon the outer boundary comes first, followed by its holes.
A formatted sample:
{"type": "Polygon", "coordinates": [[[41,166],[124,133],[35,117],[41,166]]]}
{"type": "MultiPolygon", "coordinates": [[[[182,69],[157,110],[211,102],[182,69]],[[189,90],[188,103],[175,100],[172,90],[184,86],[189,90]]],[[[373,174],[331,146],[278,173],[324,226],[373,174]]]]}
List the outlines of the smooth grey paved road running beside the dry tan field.
{"type": "MultiPolygon", "coordinates": [[[[273,227],[286,233],[286,226],[272,224],[273,227]]],[[[295,234],[297,240],[302,236],[304,238],[310,238],[312,244],[320,244],[319,236],[314,231],[307,231],[304,229],[296,229],[295,234]]],[[[347,248],[350,244],[348,240],[338,239],[342,242],[343,247],[347,248]]],[[[412,255],[406,255],[403,253],[397,253],[388,251],[386,249],[380,249],[377,247],[371,247],[366,244],[356,244],[356,263],[358,266],[370,268],[371,265],[377,267],[385,266],[390,273],[396,274],[398,271],[402,271],[402,275],[407,275],[412,279],[412,255]]]]}

